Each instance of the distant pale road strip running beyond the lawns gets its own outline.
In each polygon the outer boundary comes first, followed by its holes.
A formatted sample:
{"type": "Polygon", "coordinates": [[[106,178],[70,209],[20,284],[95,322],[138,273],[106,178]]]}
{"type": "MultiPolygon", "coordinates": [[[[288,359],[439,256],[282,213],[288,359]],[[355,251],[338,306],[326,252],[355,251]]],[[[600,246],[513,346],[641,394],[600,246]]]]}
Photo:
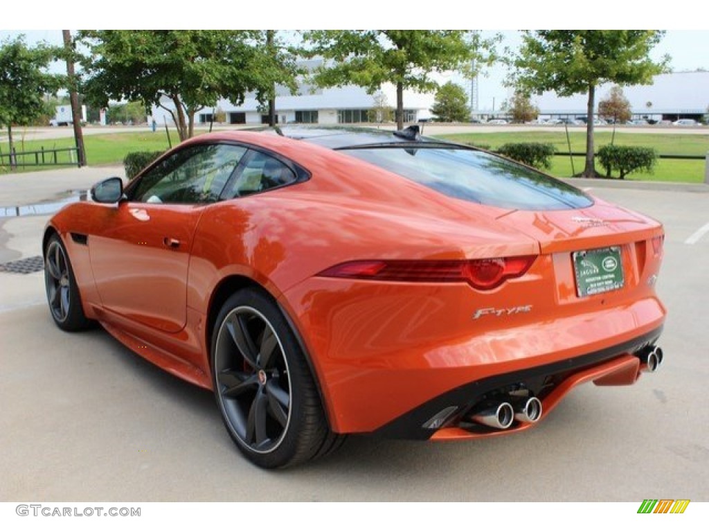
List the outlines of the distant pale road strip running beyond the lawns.
{"type": "MultiPolygon", "coordinates": [[[[354,124],[354,126],[378,127],[382,129],[393,129],[393,125],[377,125],[377,124],[354,124]]],[[[425,135],[446,135],[453,133],[503,133],[505,131],[564,131],[563,126],[525,126],[525,125],[508,125],[508,126],[486,126],[484,124],[439,124],[439,123],[423,123],[423,133],[425,135]]],[[[243,129],[257,127],[257,124],[247,124],[245,126],[234,126],[226,124],[223,126],[215,125],[215,130],[225,129],[243,129]]],[[[164,126],[160,128],[164,129],[164,126]]],[[[174,129],[174,128],[171,128],[174,129]]],[[[197,131],[206,131],[208,127],[196,127],[197,131]]],[[[586,131],[585,126],[570,126],[570,131],[586,131]]],[[[612,131],[613,126],[596,126],[596,131],[612,131]]],[[[84,135],[105,135],[106,133],[138,133],[140,131],[150,131],[150,126],[85,126],[84,135]]],[[[682,126],[618,126],[616,133],[676,133],[678,135],[706,135],[709,134],[709,128],[705,126],[682,127],[682,126]]],[[[70,138],[74,135],[74,130],[71,127],[61,126],[57,128],[13,128],[13,138],[20,140],[45,140],[51,138],[70,138]]],[[[6,140],[7,134],[5,131],[0,131],[0,139],[6,140]]]]}

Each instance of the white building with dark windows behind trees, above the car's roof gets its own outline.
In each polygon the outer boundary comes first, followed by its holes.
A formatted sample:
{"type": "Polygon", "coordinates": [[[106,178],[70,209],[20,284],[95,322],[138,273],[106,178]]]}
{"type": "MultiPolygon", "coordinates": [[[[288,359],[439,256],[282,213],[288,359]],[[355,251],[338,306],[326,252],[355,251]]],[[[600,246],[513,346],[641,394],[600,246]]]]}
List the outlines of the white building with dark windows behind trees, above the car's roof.
{"type": "MultiPolygon", "coordinates": [[[[320,62],[308,62],[308,67],[316,67],[320,62]]],[[[386,106],[396,107],[396,86],[384,84],[375,96],[367,94],[362,87],[348,85],[332,89],[320,89],[312,85],[301,84],[298,95],[293,96],[285,87],[277,87],[276,115],[278,123],[361,123],[378,122],[376,112],[370,113],[376,107],[381,108],[381,102],[386,106]],[[383,95],[384,99],[379,95],[383,95]]],[[[416,122],[430,118],[430,108],[433,106],[434,94],[423,94],[410,90],[403,93],[404,121],[416,122]]],[[[169,99],[163,103],[170,109],[174,104],[169,99]]],[[[228,100],[220,100],[214,108],[205,107],[197,113],[196,121],[209,123],[213,113],[223,111],[225,122],[232,124],[262,124],[268,123],[268,112],[256,99],[255,94],[247,94],[245,101],[237,106],[228,100]]],[[[172,123],[172,116],[165,109],[153,107],[152,118],[157,123],[172,123]]]]}

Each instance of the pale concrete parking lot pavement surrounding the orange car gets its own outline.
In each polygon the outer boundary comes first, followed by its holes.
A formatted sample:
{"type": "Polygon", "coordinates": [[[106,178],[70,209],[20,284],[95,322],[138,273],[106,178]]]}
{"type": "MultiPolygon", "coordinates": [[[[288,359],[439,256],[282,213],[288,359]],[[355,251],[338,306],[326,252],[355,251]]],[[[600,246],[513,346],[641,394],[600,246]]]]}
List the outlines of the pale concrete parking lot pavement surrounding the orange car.
{"type": "MultiPolygon", "coordinates": [[[[6,179],[0,206],[57,201],[116,172],[6,179]]],[[[285,472],[241,458],[210,392],[101,328],[59,331],[41,272],[0,272],[0,500],[709,500],[709,185],[607,185],[581,184],[666,226],[659,372],[632,387],[584,384],[519,435],[449,443],[356,436],[335,455],[285,472]]],[[[0,262],[39,255],[47,219],[0,218],[0,262]]]]}

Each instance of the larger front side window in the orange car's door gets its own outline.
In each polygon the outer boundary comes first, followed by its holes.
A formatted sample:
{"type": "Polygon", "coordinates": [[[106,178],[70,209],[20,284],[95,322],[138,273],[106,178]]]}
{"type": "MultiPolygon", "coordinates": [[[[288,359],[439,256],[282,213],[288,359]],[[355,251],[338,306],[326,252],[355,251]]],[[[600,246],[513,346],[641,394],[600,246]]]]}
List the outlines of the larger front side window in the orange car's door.
{"type": "Polygon", "coordinates": [[[228,144],[190,146],[147,172],[131,191],[132,201],[145,203],[213,203],[246,148],[228,144]]]}

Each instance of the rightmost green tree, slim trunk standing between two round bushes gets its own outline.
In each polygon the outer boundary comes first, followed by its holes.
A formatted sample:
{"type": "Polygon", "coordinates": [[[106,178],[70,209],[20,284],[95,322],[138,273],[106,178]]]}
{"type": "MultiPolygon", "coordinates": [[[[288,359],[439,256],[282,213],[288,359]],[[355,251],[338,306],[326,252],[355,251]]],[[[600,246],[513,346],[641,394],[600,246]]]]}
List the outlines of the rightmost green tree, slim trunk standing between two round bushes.
{"type": "Polygon", "coordinates": [[[596,177],[593,153],[593,112],[596,87],[605,82],[649,84],[666,70],[669,57],[649,57],[664,35],[654,30],[525,31],[511,82],[527,92],[555,91],[559,96],[588,94],[586,167],[584,177],[596,177]]]}

